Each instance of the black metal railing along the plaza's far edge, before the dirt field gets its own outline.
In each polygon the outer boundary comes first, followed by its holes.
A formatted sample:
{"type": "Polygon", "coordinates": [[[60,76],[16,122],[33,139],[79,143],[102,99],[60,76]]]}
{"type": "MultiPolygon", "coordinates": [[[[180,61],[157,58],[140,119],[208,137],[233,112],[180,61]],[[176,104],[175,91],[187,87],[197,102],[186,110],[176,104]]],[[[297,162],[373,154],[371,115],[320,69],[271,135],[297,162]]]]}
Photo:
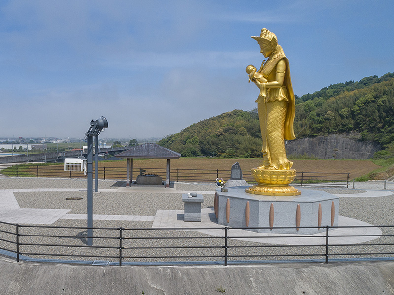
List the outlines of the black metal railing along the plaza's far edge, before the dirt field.
{"type": "MultiPolygon", "coordinates": [[[[133,176],[139,174],[140,169],[147,173],[157,174],[163,179],[166,178],[166,168],[143,168],[134,167],[133,176]]],[[[4,174],[14,177],[63,177],[81,178],[85,177],[83,172],[64,171],[63,165],[24,165],[18,164],[7,168],[4,174]]],[[[122,167],[99,167],[99,179],[126,179],[126,169],[122,167]]],[[[216,178],[225,180],[231,177],[231,170],[220,169],[184,169],[174,168],[170,171],[171,180],[214,182],[216,178]]],[[[255,182],[251,171],[243,171],[243,178],[248,182],[255,182]]],[[[307,183],[321,183],[325,185],[344,185],[349,187],[349,173],[325,173],[325,172],[297,172],[293,183],[300,183],[301,186],[307,183]]]]}

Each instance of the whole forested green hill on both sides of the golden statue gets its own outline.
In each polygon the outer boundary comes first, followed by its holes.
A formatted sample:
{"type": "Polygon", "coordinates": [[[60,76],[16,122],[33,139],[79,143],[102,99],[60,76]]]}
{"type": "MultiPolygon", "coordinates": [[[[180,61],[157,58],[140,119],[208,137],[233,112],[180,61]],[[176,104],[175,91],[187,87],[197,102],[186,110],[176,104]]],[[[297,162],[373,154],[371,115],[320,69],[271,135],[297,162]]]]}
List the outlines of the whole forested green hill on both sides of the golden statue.
{"type": "MultiPolygon", "coordinates": [[[[348,134],[380,143],[394,156],[394,73],[330,85],[296,96],[297,138],[348,134]]],[[[159,145],[182,156],[261,157],[257,110],[234,110],[193,124],[159,145]]]]}

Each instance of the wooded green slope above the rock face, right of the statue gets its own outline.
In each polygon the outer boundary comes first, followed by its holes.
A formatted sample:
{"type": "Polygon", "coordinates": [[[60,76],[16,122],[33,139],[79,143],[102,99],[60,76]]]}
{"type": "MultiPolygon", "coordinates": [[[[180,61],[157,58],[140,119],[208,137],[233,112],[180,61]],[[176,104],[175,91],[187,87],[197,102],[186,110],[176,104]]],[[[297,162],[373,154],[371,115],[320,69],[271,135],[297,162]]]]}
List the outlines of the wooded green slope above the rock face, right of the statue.
{"type": "Polygon", "coordinates": [[[301,137],[357,132],[360,139],[384,146],[394,141],[393,123],[394,78],[296,105],[295,130],[302,130],[301,137]]]}

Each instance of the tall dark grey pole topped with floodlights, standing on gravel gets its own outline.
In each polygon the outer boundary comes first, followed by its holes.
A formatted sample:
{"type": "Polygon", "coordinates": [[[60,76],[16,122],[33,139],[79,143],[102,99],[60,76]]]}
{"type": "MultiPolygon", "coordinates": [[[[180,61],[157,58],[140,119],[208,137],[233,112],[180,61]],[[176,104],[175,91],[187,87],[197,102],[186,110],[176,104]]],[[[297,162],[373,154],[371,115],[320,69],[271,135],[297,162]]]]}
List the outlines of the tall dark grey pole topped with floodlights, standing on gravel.
{"type": "MultiPolygon", "coordinates": [[[[88,238],[87,245],[92,246],[93,244],[93,136],[96,137],[96,148],[97,138],[100,132],[108,128],[108,121],[104,116],[101,116],[96,121],[90,122],[90,128],[86,131],[85,137],[88,139],[88,157],[87,157],[87,177],[88,177],[88,238]]],[[[97,165],[97,161],[96,161],[97,165]]],[[[96,166],[97,167],[97,166],[96,166]]],[[[97,181],[97,168],[96,168],[96,181],[97,181]]],[[[97,191],[97,184],[96,184],[97,191]]]]}

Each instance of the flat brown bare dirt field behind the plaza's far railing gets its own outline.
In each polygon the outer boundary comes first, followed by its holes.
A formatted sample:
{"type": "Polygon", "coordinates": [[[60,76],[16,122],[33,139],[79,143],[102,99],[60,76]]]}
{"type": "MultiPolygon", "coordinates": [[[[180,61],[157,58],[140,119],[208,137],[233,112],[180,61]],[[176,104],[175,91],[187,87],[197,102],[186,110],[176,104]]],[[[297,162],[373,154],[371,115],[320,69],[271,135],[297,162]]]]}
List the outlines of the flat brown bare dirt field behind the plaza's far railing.
{"type": "MultiPolygon", "coordinates": [[[[216,177],[230,177],[231,166],[239,162],[243,170],[244,179],[251,181],[251,168],[258,167],[261,159],[219,159],[219,158],[180,158],[171,160],[171,173],[178,181],[196,180],[196,181],[214,181],[216,177]],[[179,169],[179,175],[177,173],[179,169]],[[182,171],[181,171],[182,169],[182,171]],[[187,170],[184,170],[187,169],[187,170]],[[199,171],[204,170],[204,171],[199,171]],[[210,171],[209,171],[210,170],[210,171]],[[218,171],[217,171],[218,170],[218,171]]],[[[292,168],[297,170],[297,178],[300,180],[331,180],[346,181],[347,173],[349,179],[365,175],[380,166],[375,165],[369,160],[293,160],[292,168]],[[301,172],[304,172],[301,174],[301,172]],[[312,173],[313,175],[308,173],[312,173]],[[318,174],[316,174],[318,173],[318,174]],[[320,174],[324,173],[324,174],[320,174]],[[344,173],[344,174],[340,174],[344,173]]],[[[146,170],[146,173],[156,173],[165,177],[166,159],[134,159],[133,171],[134,177],[138,174],[138,169],[146,170]]],[[[10,176],[25,177],[86,177],[83,172],[64,171],[63,164],[50,166],[27,166],[18,165],[12,171],[3,173],[10,176]]],[[[100,179],[123,179],[126,177],[126,160],[119,161],[99,161],[99,178],[100,179]],[[106,169],[105,169],[106,168],[106,169]]],[[[387,177],[386,177],[387,178],[387,177]]]]}

